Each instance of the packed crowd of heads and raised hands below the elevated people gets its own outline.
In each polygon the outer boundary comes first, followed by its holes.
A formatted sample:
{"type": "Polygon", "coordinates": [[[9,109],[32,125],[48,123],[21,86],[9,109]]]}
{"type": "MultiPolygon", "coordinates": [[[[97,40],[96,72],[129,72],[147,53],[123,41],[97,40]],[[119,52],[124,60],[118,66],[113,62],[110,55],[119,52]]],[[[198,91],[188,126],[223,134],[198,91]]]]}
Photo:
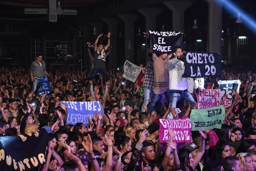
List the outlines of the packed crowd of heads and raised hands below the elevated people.
{"type": "MultiPolygon", "coordinates": [[[[140,87],[124,79],[121,69],[110,67],[107,73],[109,80],[100,76],[90,80],[87,68],[62,74],[60,69],[48,71],[52,91],[37,95],[39,86],[32,91],[28,67],[1,67],[1,136],[46,130],[50,149],[46,170],[255,170],[255,65],[223,65],[221,78],[205,78],[205,89],[218,89],[218,80],[241,80],[239,102],[226,109],[230,114],[221,129],[192,131],[190,143],[175,143],[171,129],[171,139],[160,143],[159,118],[166,118],[171,109],[167,100],[159,98],[147,113],[140,87]],[[104,111],[88,117],[89,124],[66,125],[67,107],[61,101],[99,101],[104,111]],[[208,145],[209,132],[218,138],[215,146],[208,145]]],[[[182,118],[196,105],[180,99],[177,108],[182,118]]]]}

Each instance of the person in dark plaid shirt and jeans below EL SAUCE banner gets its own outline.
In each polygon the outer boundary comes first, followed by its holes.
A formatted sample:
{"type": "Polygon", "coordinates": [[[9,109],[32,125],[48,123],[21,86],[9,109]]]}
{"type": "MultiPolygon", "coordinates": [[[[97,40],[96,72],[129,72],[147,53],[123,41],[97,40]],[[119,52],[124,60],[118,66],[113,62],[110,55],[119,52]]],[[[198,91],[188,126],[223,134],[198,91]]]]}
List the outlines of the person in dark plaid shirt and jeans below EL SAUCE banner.
{"type": "MultiPolygon", "coordinates": [[[[147,63],[145,76],[143,80],[143,91],[144,91],[144,102],[146,105],[149,104],[150,101],[150,93],[154,89],[154,66],[153,61],[150,55],[150,61],[147,63]]],[[[145,112],[145,109],[141,109],[142,112],[145,112]]]]}

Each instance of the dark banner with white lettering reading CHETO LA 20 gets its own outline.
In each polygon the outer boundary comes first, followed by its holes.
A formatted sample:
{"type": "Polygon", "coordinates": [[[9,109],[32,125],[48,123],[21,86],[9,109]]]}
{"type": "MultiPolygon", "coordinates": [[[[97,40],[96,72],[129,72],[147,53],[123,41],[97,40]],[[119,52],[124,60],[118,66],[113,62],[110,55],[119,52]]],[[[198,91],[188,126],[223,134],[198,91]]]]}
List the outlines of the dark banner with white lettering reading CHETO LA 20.
{"type": "Polygon", "coordinates": [[[221,57],[219,53],[187,52],[184,53],[185,72],[182,77],[220,77],[221,57]]]}

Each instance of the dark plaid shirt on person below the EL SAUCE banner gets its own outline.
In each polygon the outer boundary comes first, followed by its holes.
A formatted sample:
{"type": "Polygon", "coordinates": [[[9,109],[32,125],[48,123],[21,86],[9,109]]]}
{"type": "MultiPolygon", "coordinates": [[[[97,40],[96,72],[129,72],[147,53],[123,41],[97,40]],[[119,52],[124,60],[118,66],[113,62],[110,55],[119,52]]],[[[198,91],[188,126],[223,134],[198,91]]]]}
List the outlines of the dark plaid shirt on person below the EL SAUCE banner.
{"type": "Polygon", "coordinates": [[[153,91],[153,89],[154,89],[154,66],[153,66],[153,61],[149,61],[147,63],[142,87],[150,89],[151,91],[153,91]]]}

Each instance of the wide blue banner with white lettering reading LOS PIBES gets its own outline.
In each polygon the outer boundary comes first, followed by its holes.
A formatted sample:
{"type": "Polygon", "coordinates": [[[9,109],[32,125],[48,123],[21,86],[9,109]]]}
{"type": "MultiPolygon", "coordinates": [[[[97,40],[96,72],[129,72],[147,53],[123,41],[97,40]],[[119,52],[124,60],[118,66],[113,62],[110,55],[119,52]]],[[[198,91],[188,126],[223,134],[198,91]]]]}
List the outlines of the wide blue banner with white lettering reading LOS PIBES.
{"type": "Polygon", "coordinates": [[[82,122],[84,125],[88,125],[89,116],[93,119],[93,114],[102,111],[104,113],[103,106],[99,101],[93,102],[61,102],[67,106],[66,125],[82,122]]]}

